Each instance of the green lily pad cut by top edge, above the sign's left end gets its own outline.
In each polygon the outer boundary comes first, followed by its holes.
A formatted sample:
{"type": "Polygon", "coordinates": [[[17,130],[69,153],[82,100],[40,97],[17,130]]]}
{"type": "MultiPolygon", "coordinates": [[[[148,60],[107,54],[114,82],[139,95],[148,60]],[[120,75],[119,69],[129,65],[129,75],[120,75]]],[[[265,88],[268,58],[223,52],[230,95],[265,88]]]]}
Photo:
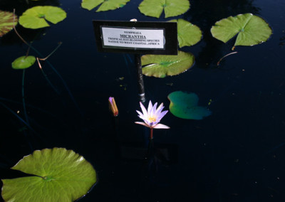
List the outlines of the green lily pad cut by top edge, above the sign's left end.
{"type": "Polygon", "coordinates": [[[81,6],[83,9],[88,9],[88,11],[94,9],[96,6],[101,6],[97,9],[96,12],[99,11],[109,11],[122,8],[125,4],[130,0],[83,0],[81,6]]]}

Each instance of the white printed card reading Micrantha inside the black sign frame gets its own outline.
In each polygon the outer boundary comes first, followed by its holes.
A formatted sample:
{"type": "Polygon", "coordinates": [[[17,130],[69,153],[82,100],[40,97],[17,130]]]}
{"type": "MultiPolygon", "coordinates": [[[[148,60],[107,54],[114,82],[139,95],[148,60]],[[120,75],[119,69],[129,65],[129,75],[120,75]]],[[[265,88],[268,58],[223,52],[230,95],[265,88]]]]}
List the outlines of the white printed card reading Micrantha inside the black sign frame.
{"type": "Polygon", "coordinates": [[[103,46],[125,48],[165,49],[164,28],[101,27],[103,46]]]}

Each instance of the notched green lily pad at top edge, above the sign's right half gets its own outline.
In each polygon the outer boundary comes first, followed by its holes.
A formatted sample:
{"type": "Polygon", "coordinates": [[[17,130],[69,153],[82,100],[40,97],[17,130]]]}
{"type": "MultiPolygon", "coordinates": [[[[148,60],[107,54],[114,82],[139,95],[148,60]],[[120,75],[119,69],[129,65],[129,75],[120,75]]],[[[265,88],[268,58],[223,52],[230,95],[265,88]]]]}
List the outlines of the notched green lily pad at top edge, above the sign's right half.
{"type": "Polygon", "coordinates": [[[165,11],[165,18],[179,16],[190,9],[188,0],[144,0],[138,6],[140,12],[145,16],[159,18],[165,11]]]}

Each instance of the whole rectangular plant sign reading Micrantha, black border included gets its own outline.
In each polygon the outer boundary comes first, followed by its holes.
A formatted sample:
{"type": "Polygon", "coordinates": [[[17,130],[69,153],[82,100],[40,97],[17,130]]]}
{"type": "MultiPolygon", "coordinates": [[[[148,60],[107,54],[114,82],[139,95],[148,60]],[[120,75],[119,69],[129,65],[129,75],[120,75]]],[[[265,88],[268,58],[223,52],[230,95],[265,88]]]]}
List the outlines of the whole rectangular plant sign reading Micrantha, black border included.
{"type": "Polygon", "coordinates": [[[98,51],[177,55],[176,22],[93,21],[98,51]]]}

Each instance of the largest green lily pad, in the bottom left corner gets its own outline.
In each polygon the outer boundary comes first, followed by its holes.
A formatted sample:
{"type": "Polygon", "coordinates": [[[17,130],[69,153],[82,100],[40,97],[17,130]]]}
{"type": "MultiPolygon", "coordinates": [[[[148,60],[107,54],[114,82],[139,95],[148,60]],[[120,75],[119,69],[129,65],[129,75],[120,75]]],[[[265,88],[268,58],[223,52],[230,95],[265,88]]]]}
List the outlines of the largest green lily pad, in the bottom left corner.
{"type": "Polygon", "coordinates": [[[96,182],[93,166],[64,148],[33,151],[11,169],[35,176],[3,179],[4,201],[75,201],[96,182]]]}

